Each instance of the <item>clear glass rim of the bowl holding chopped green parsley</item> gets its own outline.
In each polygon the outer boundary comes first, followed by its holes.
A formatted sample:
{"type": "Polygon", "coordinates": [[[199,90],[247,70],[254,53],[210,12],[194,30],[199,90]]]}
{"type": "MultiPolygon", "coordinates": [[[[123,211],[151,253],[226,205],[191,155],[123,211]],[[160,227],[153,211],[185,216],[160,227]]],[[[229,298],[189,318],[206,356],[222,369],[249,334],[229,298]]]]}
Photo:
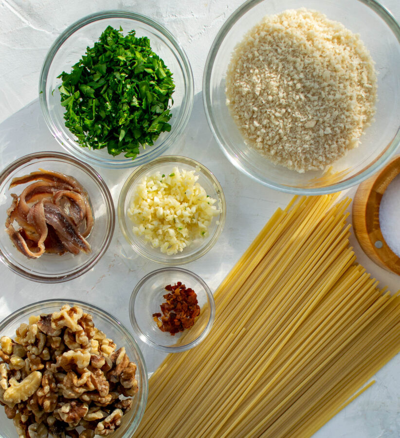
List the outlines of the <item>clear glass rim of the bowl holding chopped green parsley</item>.
{"type": "MultiPolygon", "coordinates": [[[[47,128],[49,128],[51,134],[55,137],[55,140],[62,146],[64,149],[66,149],[69,153],[73,154],[82,160],[86,160],[91,164],[99,165],[106,168],[111,169],[125,169],[130,167],[139,166],[141,164],[145,164],[152,160],[154,157],[159,156],[162,154],[169,146],[171,146],[177,138],[181,135],[182,131],[186,127],[190,114],[192,112],[193,108],[193,100],[194,100],[194,79],[193,79],[193,72],[192,68],[189,62],[189,58],[187,57],[185,51],[183,50],[181,44],[178,42],[178,40],[169,32],[162,24],[158,23],[157,21],[153,20],[152,18],[146,17],[145,15],[138,14],[135,12],[130,12],[122,9],[115,9],[115,10],[108,10],[108,11],[101,11],[101,12],[95,12],[93,14],[87,15],[83,18],[80,18],[79,20],[73,22],[70,26],[68,26],[61,34],[55,39],[54,43],[50,47],[49,51],[47,52],[47,55],[44,59],[43,66],[40,71],[39,76],[39,102],[40,102],[40,108],[42,110],[43,118],[46,122],[47,128]],[[141,155],[139,154],[134,160],[126,158],[120,162],[118,161],[112,161],[110,158],[99,158],[95,157],[89,152],[82,152],[80,149],[82,149],[81,146],[79,146],[75,141],[72,139],[69,139],[75,146],[72,146],[72,144],[69,143],[68,139],[65,139],[63,135],[58,130],[55,123],[53,123],[53,120],[50,116],[50,111],[47,106],[47,100],[46,100],[46,83],[47,83],[47,77],[49,74],[50,66],[53,62],[55,54],[58,52],[59,48],[64,44],[64,42],[71,36],[73,33],[81,29],[83,26],[86,26],[87,24],[91,24],[92,22],[105,19],[105,18],[127,18],[132,19],[136,21],[140,21],[144,24],[147,24],[148,26],[154,28],[158,32],[160,32],[166,39],[168,40],[169,47],[173,47],[173,52],[176,57],[179,58],[179,60],[182,62],[181,70],[182,74],[186,83],[185,87],[185,93],[183,95],[182,99],[182,116],[180,116],[180,119],[177,122],[176,127],[173,129],[173,132],[171,132],[166,139],[164,139],[163,143],[156,146],[155,149],[151,149],[153,146],[146,146],[150,148],[150,152],[147,155],[141,155]]],[[[87,149],[87,148],[86,148],[87,149]]],[[[88,149],[90,152],[92,152],[92,149],[88,149]]]]}

